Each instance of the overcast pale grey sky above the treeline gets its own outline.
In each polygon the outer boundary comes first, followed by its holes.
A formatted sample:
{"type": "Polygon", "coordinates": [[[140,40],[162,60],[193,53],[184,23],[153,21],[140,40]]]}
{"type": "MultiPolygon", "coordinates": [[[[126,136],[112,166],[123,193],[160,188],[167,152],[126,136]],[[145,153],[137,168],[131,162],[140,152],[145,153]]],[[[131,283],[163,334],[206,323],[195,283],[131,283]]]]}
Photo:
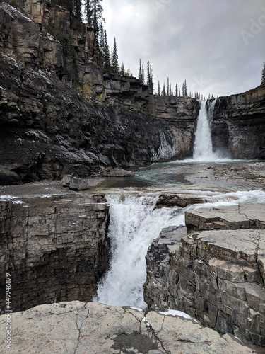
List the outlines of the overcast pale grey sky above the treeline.
{"type": "MultiPolygon", "coordinates": [[[[155,91],[170,78],[204,96],[259,86],[265,64],[265,0],[103,0],[108,44],[138,77],[149,60],[155,91]]],[[[175,94],[175,91],[174,91],[175,94]]]]}

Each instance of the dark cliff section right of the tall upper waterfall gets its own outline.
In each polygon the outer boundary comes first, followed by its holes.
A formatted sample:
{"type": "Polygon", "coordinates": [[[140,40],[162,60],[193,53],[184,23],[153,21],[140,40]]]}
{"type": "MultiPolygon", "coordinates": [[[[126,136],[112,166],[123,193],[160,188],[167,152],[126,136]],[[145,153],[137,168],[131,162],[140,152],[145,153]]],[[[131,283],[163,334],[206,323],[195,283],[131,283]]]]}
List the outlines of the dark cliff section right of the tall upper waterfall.
{"type": "Polygon", "coordinates": [[[233,159],[265,159],[265,86],[212,104],[213,149],[233,159]]]}

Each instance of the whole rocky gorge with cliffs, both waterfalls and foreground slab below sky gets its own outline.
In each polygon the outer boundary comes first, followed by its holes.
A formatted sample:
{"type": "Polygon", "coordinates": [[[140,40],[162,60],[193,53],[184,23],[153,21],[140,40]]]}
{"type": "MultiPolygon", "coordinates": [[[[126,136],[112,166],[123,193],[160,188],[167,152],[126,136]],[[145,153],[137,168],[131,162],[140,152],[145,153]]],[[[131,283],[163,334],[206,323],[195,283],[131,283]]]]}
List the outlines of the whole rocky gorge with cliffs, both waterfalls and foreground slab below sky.
{"type": "Polygon", "coordinates": [[[1,346],[10,273],[13,353],[262,353],[265,86],[153,95],[104,74],[64,8],[27,6],[0,6],[1,346]],[[114,167],[135,176],[100,177],[114,167]]]}

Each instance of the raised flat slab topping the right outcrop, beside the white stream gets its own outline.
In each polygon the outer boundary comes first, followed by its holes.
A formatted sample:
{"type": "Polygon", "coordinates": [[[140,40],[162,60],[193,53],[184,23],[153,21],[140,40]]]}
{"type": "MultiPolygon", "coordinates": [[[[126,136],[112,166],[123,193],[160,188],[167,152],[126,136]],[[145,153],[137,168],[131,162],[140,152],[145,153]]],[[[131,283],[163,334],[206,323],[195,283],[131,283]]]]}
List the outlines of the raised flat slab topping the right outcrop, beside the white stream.
{"type": "Polygon", "coordinates": [[[211,229],[265,229],[265,205],[200,208],[185,213],[188,232],[211,229]]]}

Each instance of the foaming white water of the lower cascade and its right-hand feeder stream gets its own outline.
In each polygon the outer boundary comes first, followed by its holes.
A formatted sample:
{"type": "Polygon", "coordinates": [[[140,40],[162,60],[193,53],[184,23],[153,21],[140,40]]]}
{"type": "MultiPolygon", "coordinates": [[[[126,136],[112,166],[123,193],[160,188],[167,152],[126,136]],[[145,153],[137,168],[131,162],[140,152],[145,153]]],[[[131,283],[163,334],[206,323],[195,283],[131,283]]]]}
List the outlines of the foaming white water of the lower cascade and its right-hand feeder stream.
{"type": "MultiPolygon", "coordinates": [[[[198,191],[196,192],[198,193],[198,191]]],[[[204,192],[201,192],[201,197],[204,192]]],[[[184,224],[184,212],[201,207],[220,207],[246,202],[265,204],[264,190],[232,193],[205,192],[212,202],[186,208],[153,209],[155,195],[117,193],[108,195],[112,260],[93,300],[114,306],[145,308],[143,283],[146,281],[145,256],[148,246],[163,227],[184,224]]]]}

